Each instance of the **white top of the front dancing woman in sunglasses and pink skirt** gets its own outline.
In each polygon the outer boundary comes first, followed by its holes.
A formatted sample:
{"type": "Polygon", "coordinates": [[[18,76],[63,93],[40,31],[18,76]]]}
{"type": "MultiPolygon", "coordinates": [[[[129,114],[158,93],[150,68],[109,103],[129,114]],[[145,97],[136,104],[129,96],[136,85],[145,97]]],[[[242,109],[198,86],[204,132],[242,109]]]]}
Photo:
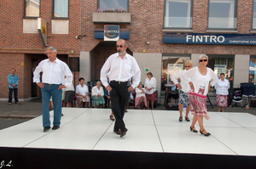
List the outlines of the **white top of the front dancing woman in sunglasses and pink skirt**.
{"type": "Polygon", "coordinates": [[[198,70],[198,67],[191,68],[190,70],[185,71],[181,78],[185,83],[192,82],[195,88],[195,93],[198,93],[199,88],[201,87],[201,82],[205,82],[205,92],[203,95],[207,95],[209,82],[212,80],[211,85],[212,87],[218,82],[218,76],[212,71],[212,69],[207,68],[206,76],[202,76],[198,70]],[[189,80],[189,77],[191,80],[189,80]]]}

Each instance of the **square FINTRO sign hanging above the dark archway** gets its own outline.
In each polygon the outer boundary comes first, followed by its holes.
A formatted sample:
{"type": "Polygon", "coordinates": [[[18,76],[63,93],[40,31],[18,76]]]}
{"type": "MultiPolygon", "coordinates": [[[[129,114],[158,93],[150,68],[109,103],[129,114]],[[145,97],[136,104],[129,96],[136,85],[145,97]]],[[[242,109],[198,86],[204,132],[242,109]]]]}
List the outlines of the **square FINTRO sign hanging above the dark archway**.
{"type": "Polygon", "coordinates": [[[119,25],[104,25],[104,41],[119,40],[119,25]]]}

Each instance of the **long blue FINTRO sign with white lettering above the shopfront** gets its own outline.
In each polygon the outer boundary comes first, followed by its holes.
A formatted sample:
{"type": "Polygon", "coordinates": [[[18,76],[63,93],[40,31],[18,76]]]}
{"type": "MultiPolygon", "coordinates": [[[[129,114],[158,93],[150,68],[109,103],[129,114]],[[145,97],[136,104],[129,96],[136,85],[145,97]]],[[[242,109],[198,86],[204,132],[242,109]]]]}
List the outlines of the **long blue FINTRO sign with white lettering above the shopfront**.
{"type": "Polygon", "coordinates": [[[256,35],[164,32],[163,43],[256,45],[256,35]]]}

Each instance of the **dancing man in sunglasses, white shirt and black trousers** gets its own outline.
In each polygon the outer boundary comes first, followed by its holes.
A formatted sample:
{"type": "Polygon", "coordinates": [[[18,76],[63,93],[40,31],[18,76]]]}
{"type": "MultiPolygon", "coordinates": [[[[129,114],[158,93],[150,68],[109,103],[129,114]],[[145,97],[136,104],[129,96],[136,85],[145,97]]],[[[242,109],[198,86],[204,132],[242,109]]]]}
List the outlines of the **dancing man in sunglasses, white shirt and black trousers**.
{"type": "Polygon", "coordinates": [[[125,40],[119,39],[116,42],[116,48],[118,53],[109,56],[102,66],[101,81],[110,92],[111,109],[116,119],[113,132],[116,132],[122,138],[128,131],[123,121],[125,108],[131,90],[137,87],[140,82],[141,70],[137,65],[136,59],[126,53],[127,42],[125,40]],[[107,74],[110,83],[108,83],[107,74]],[[132,84],[130,84],[131,77],[132,84]]]}

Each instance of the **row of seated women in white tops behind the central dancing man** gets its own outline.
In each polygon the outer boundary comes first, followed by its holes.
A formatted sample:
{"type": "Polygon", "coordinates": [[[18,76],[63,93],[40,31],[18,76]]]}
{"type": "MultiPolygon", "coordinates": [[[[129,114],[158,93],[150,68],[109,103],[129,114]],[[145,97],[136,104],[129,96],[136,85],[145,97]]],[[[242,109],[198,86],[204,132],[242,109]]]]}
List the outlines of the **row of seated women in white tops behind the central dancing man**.
{"type": "MultiPolygon", "coordinates": [[[[142,82],[131,91],[129,104],[133,104],[135,109],[148,109],[151,104],[151,109],[154,110],[154,101],[157,100],[156,95],[156,79],[152,73],[147,74],[147,78],[143,85],[142,82]]],[[[52,100],[50,100],[51,102],[52,100]]],[[[62,92],[62,106],[67,107],[85,107],[85,108],[107,108],[109,107],[110,93],[102,85],[102,82],[84,82],[84,78],[79,78],[79,85],[73,87],[68,86],[62,92]]],[[[52,109],[52,108],[51,108],[52,109]]],[[[113,115],[111,115],[113,116],[113,115]]]]}

